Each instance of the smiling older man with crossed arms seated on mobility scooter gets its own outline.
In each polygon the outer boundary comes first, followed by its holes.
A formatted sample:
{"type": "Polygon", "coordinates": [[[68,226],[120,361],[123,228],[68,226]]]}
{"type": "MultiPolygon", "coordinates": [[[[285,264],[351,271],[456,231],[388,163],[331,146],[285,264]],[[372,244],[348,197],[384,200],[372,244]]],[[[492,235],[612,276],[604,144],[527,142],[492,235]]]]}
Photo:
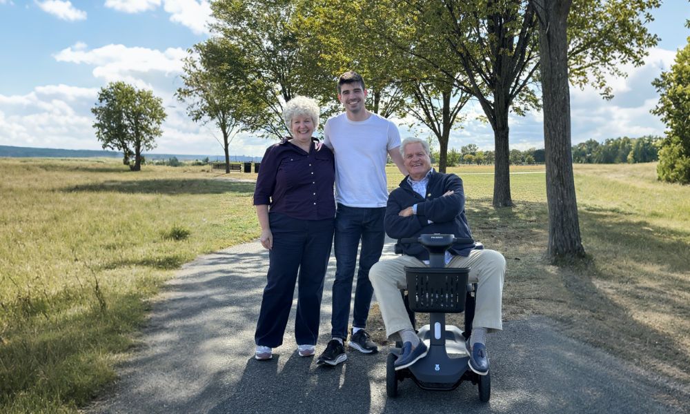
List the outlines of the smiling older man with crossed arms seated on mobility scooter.
{"type": "MultiPolygon", "coordinates": [[[[409,175],[388,197],[384,225],[393,239],[443,233],[471,238],[465,217],[462,179],[455,174],[441,174],[431,168],[429,148],[422,139],[405,139],[400,152],[409,175]]],[[[426,356],[428,349],[417,337],[400,289],[406,288],[405,266],[428,266],[428,251],[420,244],[402,244],[403,255],[375,264],[369,279],[386,325],[386,335],[402,339],[402,355],[395,369],[411,366],[426,356]]],[[[469,365],[479,375],[489,372],[486,333],[502,329],[501,298],[506,260],[495,250],[477,249],[474,244],[454,244],[446,252],[446,266],[470,268],[469,281],[477,283],[472,335],[466,346],[469,365]]]]}

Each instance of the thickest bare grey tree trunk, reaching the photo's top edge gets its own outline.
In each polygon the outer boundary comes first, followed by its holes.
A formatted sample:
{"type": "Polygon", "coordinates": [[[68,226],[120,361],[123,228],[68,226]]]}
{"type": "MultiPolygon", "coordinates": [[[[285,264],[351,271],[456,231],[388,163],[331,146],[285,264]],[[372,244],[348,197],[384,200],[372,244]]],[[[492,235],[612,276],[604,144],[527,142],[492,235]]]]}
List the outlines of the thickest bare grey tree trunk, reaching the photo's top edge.
{"type": "Polygon", "coordinates": [[[572,0],[535,0],[540,14],[546,199],[552,259],[584,256],[571,154],[568,13],[572,0]]]}

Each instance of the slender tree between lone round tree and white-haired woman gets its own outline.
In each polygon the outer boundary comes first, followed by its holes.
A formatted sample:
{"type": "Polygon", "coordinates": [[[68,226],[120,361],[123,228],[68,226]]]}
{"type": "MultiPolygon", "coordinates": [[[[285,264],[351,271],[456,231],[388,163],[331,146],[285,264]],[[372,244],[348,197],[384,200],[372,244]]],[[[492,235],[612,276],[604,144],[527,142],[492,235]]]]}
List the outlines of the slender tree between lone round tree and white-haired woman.
{"type": "Polygon", "coordinates": [[[195,122],[213,121],[223,137],[219,141],[225,153],[225,172],[230,172],[230,141],[242,130],[248,108],[260,107],[252,102],[246,70],[237,47],[219,37],[197,43],[188,50],[181,75],[185,86],[175,95],[187,103],[187,114],[195,122]]]}

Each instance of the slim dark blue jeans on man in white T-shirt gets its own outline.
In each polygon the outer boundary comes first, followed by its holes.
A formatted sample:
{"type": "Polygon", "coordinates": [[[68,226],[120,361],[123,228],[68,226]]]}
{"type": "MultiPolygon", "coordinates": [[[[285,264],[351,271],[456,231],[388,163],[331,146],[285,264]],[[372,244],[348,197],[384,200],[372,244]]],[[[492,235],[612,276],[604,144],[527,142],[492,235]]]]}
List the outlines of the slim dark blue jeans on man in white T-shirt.
{"type": "Polygon", "coordinates": [[[335,214],[335,281],[333,282],[333,315],[331,316],[331,335],[346,339],[352,284],[357,262],[357,246],[362,240],[359,253],[359,270],[355,287],[355,307],[353,326],[366,328],[371,297],[374,289],[369,282],[369,269],[379,261],[384,248],[385,207],[359,208],[338,204],[335,214]]]}

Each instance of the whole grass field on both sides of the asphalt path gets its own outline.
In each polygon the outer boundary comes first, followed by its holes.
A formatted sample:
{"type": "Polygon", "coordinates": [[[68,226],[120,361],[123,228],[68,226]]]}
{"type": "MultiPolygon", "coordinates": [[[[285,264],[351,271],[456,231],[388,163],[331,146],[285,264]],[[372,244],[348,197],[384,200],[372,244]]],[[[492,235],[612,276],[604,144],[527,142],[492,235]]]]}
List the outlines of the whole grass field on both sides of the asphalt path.
{"type": "MultiPolygon", "coordinates": [[[[492,168],[464,180],[475,238],[508,259],[504,317],[570,335],[690,385],[690,187],[655,165],[575,166],[589,259],[556,267],[543,166],[514,168],[495,210],[492,168]]],[[[113,160],[0,159],[0,412],[75,412],[114,377],[147,300],[201,253],[254,239],[255,174],[113,160]]],[[[389,186],[402,179],[389,168],[389,186]]],[[[376,323],[375,311],[371,323],[376,323]]],[[[500,340],[499,336],[491,341],[500,340]]]]}

